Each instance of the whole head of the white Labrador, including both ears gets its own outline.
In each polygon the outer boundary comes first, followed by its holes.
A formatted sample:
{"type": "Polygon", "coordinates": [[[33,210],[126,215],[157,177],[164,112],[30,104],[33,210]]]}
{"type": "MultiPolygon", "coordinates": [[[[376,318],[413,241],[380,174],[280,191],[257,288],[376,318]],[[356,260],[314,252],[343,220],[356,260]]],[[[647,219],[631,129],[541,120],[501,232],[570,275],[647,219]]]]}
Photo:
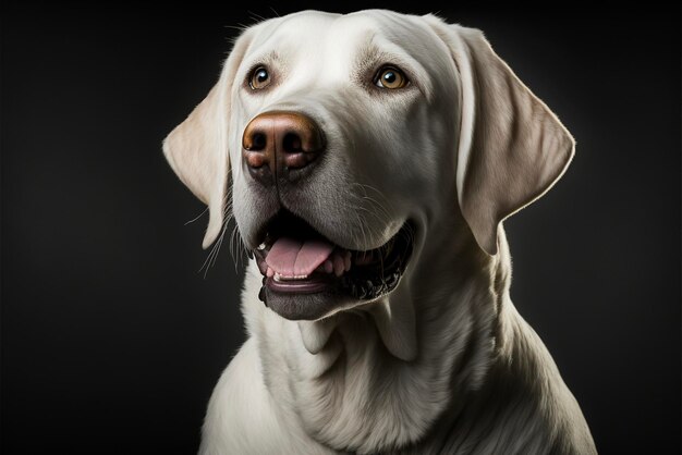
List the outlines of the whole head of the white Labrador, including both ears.
{"type": "Polygon", "coordinates": [[[573,142],[477,30],[304,12],[244,32],[165,152],[210,208],[205,247],[231,185],[260,297],[318,319],[390,297],[458,204],[495,255],[498,224],[559,179],[573,142]]]}

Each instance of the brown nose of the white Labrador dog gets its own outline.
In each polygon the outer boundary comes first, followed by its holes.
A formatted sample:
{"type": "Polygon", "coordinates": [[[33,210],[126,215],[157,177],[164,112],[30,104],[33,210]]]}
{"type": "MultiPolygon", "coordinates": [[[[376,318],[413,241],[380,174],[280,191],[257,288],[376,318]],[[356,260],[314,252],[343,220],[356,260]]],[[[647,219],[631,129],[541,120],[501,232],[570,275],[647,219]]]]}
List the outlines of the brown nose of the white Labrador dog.
{"type": "Polygon", "coordinates": [[[244,130],[242,147],[251,175],[264,185],[291,180],[325,149],[319,126],[297,112],[265,112],[244,130]]]}

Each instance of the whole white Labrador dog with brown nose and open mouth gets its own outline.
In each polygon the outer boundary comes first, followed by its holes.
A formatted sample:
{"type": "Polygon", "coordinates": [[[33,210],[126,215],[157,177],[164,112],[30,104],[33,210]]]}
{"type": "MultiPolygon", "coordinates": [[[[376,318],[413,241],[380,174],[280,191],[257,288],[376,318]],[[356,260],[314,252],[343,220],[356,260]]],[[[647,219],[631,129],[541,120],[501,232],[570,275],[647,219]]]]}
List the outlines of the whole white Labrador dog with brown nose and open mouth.
{"type": "Polygon", "coordinates": [[[502,221],[574,140],[483,33],[305,11],[246,27],[163,142],[252,260],[202,454],[595,454],[510,299],[502,221]]]}

